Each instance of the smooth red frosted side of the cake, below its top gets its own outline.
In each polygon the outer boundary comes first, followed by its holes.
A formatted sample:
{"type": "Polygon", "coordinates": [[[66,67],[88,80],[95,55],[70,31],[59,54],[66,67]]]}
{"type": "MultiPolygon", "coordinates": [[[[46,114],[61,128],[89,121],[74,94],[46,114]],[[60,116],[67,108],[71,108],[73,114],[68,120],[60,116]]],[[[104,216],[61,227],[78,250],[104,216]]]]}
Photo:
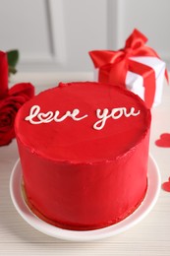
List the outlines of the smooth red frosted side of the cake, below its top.
{"type": "Polygon", "coordinates": [[[35,160],[19,145],[28,206],[47,223],[69,229],[95,229],[124,220],[145,196],[147,141],[148,136],[135,151],[102,164],[35,160]]]}

